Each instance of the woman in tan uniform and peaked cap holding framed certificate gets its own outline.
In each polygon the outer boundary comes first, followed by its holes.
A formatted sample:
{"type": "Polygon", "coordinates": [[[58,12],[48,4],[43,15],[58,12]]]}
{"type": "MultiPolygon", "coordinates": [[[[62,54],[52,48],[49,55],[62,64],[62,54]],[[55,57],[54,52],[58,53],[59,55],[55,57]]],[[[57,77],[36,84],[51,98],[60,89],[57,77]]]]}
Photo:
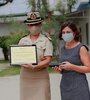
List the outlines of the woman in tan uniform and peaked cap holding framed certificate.
{"type": "Polygon", "coordinates": [[[51,100],[47,67],[52,59],[53,47],[50,40],[41,34],[42,21],[39,12],[28,13],[25,20],[30,34],[22,38],[19,45],[36,45],[38,64],[21,65],[20,100],[51,100]]]}

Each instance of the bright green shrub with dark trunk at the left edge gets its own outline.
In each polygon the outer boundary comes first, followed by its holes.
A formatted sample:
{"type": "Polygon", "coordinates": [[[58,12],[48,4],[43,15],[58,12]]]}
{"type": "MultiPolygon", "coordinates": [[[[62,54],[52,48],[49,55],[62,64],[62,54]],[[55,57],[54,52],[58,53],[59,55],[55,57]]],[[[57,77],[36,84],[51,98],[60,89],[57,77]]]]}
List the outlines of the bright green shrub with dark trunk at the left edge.
{"type": "Polygon", "coordinates": [[[27,33],[11,33],[9,36],[0,37],[0,47],[2,48],[5,60],[9,60],[10,45],[18,44],[19,40],[25,35],[27,35],[27,33]]]}

